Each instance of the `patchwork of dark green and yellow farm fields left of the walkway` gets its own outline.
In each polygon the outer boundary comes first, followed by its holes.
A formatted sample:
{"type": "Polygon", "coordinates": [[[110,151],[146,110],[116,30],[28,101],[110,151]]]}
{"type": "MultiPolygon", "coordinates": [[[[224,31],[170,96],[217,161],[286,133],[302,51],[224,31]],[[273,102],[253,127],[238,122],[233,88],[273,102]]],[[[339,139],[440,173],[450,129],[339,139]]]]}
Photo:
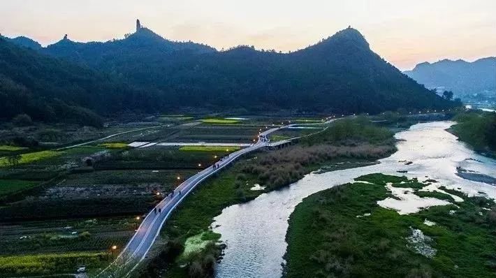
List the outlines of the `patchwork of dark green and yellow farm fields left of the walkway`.
{"type": "MultiPolygon", "coordinates": [[[[173,124],[61,150],[5,145],[3,152],[20,157],[16,163],[0,159],[0,197],[8,197],[0,206],[0,277],[73,273],[80,265],[90,272],[102,268],[112,258],[110,247],[115,245],[117,253],[132,237],[140,222],[136,217],[142,219],[164,194],[191,175],[240,149],[222,145],[133,148],[130,142],[246,144],[280,121],[177,118],[173,124]]],[[[95,134],[143,127],[124,126],[95,134]]],[[[278,136],[305,132],[287,131],[278,136]]],[[[224,182],[237,178],[228,175],[224,182]]],[[[235,192],[234,198],[248,199],[261,193],[251,191],[251,186],[243,185],[242,194],[235,192]]],[[[210,237],[215,236],[205,233],[198,238],[210,237]]]]}

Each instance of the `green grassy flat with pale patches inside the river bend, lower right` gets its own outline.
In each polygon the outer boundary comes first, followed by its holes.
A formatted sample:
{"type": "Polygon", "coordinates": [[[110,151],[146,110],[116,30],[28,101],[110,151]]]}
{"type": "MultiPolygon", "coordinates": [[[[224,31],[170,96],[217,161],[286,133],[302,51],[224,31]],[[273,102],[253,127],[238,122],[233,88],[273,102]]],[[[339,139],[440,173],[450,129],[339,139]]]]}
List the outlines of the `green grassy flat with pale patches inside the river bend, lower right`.
{"type": "Polygon", "coordinates": [[[402,179],[367,175],[305,198],[289,219],[286,277],[494,277],[493,201],[457,191],[463,202],[414,214],[379,207],[402,179]]]}

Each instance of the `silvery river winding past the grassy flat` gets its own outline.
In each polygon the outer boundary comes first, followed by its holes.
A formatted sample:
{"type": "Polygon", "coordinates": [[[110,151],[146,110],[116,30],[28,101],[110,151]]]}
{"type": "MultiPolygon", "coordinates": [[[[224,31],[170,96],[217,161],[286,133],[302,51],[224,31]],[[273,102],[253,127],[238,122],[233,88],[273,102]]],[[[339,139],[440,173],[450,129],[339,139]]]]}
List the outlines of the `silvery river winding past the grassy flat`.
{"type": "Polygon", "coordinates": [[[360,175],[407,175],[421,181],[429,178],[439,181],[437,186],[455,188],[470,196],[485,194],[496,198],[493,184],[465,180],[457,175],[457,167],[462,167],[470,173],[496,177],[496,161],[474,153],[445,131],[452,124],[454,122],[416,124],[397,133],[398,151],[381,159],[377,165],[311,173],[286,189],[264,193],[249,203],[226,207],[212,224],[214,232],[221,233],[221,240],[227,244],[216,276],[281,277],[288,219],[296,205],[312,193],[351,182],[360,175]],[[400,161],[413,163],[405,165],[400,161]],[[398,170],[408,173],[400,174],[398,170]]]}

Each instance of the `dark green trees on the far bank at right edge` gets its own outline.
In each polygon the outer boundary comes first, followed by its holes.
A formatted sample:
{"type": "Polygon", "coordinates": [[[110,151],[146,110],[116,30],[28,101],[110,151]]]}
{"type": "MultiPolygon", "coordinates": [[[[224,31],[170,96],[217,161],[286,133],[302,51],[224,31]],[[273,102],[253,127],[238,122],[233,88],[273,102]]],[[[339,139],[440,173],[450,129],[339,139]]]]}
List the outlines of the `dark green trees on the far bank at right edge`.
{"type": "Polygon", "coordinates": [[[450,131],[478,152],[496,155],[496,113],[465,112],[456,115],[458,122],[450,131]]]}

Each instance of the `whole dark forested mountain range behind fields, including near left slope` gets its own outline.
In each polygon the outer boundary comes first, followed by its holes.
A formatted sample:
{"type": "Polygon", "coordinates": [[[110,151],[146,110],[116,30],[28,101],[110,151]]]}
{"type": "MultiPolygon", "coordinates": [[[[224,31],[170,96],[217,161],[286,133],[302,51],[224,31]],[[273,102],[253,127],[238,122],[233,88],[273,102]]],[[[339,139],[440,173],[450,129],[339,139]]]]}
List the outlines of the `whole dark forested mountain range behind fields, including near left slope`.
{"type": "MultiPolygon", "coordinates": [[[[57,98],[100,115],[184,108],[376,113],[460,104],[403,75],[351,28],[283,54],[247,46],[217,52],[206,45],[168,41],[137,25],[136,33],[106,43],[75,43],[65,36],[39,49],[41,54],[2,42],[5,66],[0,74],[8,85],[3,92],[25,92],[29,97],[24,102],[31,96],[48,103],[57,98]]],[[[3,112],[3,117],[17,112],[3,112]]]]}

